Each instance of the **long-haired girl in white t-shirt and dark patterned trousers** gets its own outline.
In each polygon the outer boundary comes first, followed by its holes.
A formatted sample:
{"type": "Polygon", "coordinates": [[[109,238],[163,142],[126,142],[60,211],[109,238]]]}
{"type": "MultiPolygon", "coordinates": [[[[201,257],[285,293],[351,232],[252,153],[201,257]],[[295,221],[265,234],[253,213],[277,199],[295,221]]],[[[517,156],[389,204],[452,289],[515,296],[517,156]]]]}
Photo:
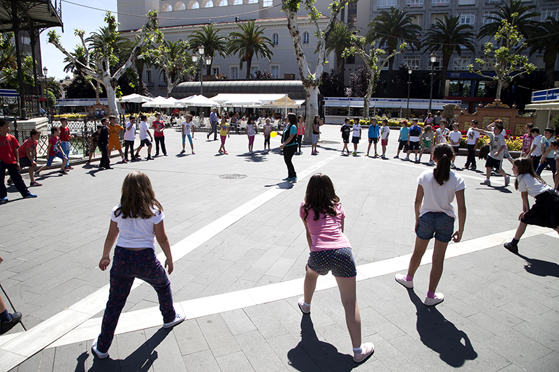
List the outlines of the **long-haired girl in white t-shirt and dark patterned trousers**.
{"type": "Polygon", "coordinates": [[[137,170],[129,173],[122,184],[120,204],[112,209],[103,257],[99,261],[99,268],[105,271],[116,241],[110,269],[109,299],[101,323],[101,334],[92,345],[92,351],[101,359],[109,356],[108,350],[115,336],[118,318],[134,278],[150,283],[157,291],[164,328],[174,327],[184,320],[183,314],[175,312],[169,278],[155,255],[157,239],[166,257],[165,267],[169,274],[173,272],[173,257],[163,218],[163,207],[155,198],[147,175],[137,170]]]}

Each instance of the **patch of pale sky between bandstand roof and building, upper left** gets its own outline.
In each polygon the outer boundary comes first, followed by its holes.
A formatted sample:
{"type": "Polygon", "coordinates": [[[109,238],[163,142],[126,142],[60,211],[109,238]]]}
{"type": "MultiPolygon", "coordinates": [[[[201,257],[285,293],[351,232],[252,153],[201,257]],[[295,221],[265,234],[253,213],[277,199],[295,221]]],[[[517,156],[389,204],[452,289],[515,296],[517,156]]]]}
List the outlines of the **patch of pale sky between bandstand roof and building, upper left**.
{"type": "MultiPolygon", "coordinates": [[[[60,1],[60,0],[59,0],[60,1]]],[[[117,0],[68,0],[68,3],[62,0],[62,23],[64,24],[64,34],[60,27],[52,28],[57,31],[61,36],[61,44],[68,51],[72,51],[75,45],[80,44],[80,38],[74,35],[74,29],[82,29],[85,31],[85,36],[89,36],[92,31],[96,31],[99,27],[105,25],[103,19],[105,18],[106,10],[110,10],[116,15],[117,0]],[[94,10],[91,8],[84,8],[82,6],[74,5],[82,4],[92,8],[99,8],[103,10],[94,10]]],[[[51,0],[54,6],[55,1],[51,0]]],[[[118,17],[117,17],[118,19],[118,17]]],[[[48,68],[48,77],[56,77],[57,79],[64,79],[66,75],[64,72],[64,54],[57,50],[57,48],[47,43],[48,31],[47,29],[41,33],[41,58],[43,59],[43,67],[48,68]]]]}

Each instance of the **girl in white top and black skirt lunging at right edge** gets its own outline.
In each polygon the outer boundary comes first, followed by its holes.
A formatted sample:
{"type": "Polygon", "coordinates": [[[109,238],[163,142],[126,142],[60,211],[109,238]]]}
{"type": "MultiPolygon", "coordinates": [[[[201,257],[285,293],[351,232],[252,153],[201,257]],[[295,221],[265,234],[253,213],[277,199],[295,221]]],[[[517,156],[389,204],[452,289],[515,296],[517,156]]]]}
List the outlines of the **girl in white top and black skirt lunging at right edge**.
{"type": "Polygon", "coordinates": [[[518,253],[518,241],[524,234],[526,225],[552,228],[559,233],[559,195],[534,172],[530,158],[515,159],[512,163],[512,172],[516,174],[514,188],[521,193],[522,212],[518,216],[520,224],[516,229],[514,239],[510,243],[505,243],[504,248],[512,253],[518,253]],[[536,200],[532,208],[528,202],[528,195],[536,200]]]}

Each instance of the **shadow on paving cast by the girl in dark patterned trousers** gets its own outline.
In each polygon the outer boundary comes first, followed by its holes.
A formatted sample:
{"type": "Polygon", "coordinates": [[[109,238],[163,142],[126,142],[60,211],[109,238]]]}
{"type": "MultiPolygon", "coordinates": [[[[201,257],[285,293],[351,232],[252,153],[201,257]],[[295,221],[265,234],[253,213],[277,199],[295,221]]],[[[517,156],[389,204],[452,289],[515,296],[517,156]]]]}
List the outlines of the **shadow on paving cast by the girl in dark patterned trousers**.
{"type": "MultiPolygon", "coordinates": [[[[147,339],[145,343],[140,345],[131,355],[126,357],[126,359],[99,359],[94,357],[92,351],[83,352],[77,359],[78,364],[75,366],[75,371],[85,371],[85,360],[88,357],[93,357],[93,365],[87,370],[89,372],[109,372],[109,371],[151,371],[152,365],[157,359],[157,345],[163,341],[167,335],[171,332],[171,329],[164,329],[161,327],[153,336],[147,339]]],[[[115,348],[116,345],[113,345],[115,348]]],[[[110,350],[109,350],[110,355],[110,350]]]]}

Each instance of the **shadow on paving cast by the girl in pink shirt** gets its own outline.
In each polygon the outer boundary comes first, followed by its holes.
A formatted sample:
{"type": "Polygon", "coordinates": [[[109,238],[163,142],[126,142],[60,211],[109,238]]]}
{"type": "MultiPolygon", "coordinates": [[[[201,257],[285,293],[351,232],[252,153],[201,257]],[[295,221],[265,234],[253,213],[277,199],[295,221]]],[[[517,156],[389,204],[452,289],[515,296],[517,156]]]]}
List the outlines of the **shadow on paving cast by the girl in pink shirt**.
{"type": "Polygon", "coordinates": [[[287,352],[289,365],[297,371],[351,371],[355,362],[350,355],[342,354],[330,343],[319,341],[309,314],[301,318],[301,341],[287,352]]]}

